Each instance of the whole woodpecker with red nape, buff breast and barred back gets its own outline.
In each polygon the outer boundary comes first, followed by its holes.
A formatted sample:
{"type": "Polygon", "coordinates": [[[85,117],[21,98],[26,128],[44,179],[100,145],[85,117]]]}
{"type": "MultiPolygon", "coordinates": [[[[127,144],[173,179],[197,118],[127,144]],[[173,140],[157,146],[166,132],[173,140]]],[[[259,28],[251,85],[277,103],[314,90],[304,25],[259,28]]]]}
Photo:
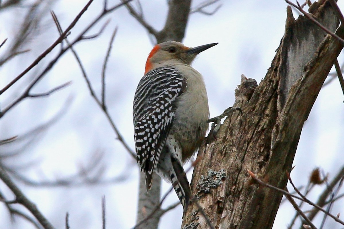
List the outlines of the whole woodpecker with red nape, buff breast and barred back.
{"type": "Polygon", "coordinates": [[[172,183],[184,211],[191,188],[183,164],[200,147],[209,118],[203,76],[190,65],[197,54],[217,44],[155,45],[133,102],[136,159],[146,175],[147,192],[156,172],[172,183]]]}

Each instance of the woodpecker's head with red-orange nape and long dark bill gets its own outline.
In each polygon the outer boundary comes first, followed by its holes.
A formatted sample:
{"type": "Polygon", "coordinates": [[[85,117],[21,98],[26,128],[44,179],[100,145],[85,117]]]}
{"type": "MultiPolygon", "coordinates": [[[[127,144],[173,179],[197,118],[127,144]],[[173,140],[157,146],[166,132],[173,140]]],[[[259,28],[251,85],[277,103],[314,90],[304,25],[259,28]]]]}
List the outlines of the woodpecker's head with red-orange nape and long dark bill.
{"type": "Polygon", "coordinates": [[[212,43],[195,48],[186,47],[182,43],[176,41],[166,41],[157,44],[148,55],[144,73],[146,74],[148,71],[163,65],[191,65],[191,62],[195,59],[197,54],[217,44],[218,43],[212,43]]]}

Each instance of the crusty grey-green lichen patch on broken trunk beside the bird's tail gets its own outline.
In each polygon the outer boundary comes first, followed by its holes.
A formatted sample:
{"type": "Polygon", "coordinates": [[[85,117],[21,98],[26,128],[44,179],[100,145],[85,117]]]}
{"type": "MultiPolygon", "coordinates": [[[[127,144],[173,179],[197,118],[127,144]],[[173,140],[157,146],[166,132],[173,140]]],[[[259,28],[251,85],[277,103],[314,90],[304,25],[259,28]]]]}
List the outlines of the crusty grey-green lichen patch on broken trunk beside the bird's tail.
{"type": "Polygon", "coordinates": [[[219,171],[213,171],[208,169],[207,175],[201,175],[201,179],[197,182],[197,193],[195,198],[199,199],[203,194],[210,193],[212,188],[217,188],[226,179],[226,171],[221,169],[219,171]]]}

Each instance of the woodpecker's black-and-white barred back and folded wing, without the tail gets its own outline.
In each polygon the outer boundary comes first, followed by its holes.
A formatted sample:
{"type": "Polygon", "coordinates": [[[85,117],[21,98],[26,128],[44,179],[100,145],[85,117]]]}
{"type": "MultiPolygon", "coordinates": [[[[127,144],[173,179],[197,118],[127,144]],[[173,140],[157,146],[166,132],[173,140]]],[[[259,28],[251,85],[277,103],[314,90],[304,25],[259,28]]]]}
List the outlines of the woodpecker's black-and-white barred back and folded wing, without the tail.
{"type": "Polygon", "coordinates": [[[135,92],[133,121],[136,159],[146,174],[147,190],[173,122],[174,103],[186,89],[185,78],[173,67],[160,67],[142,77],[135,92]]]}

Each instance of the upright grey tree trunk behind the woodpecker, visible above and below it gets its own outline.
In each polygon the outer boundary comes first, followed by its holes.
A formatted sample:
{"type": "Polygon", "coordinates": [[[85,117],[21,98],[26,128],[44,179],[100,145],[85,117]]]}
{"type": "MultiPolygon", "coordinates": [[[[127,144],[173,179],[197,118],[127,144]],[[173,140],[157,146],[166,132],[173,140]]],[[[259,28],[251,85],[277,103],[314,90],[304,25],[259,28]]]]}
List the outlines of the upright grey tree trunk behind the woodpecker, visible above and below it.
{"type": "MultiPolygon", "coordinates": [[[[185,29],[187,20],[189,19],[191,0],[171,0],[169,1],[169,12],[166,18],[165,26],[161,31],[155,31],[150,25],[143,21],[142,16],[136,14],[135,11],[128,6],[130,13],[137,18],[137,20],[146,27],[147,31],[151,33],[157,40],[157,44],[164,41],[179,41],[181,42],[185,36],[185,29]]],[[[145,176],[140,172],[140,185],[139,185],[139,201],[138,201],[138,215],[136,223],[143,223],[137,228],[140,229],[155,229],[158,228],[160,221],[160,211],[155,211],[150,218],[147,218],[152,211],[160,203],[160,186],[161,179],[155,174],[153,178],[152,188],[147,193],[145,176]]]]}

